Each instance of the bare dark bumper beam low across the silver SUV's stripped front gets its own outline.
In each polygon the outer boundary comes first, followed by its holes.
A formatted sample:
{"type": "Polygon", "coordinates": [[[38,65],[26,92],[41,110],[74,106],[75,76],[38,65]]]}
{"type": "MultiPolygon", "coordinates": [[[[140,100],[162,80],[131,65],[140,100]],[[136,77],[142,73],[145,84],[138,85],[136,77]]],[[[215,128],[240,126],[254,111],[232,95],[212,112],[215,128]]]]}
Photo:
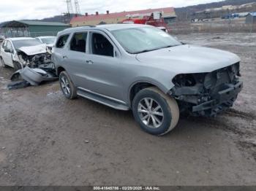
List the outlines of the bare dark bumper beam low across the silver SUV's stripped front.
{"type": "Polygon", "coordinates": [[[217,98],[206,101],[197,106],[192,106],[192,112],[210,117],[216,116],[219,112],[233,106],[234,101],[243,88],[243,82],[238,82],[236,85],[229,85],[226,90],[221,90],[217,93],[217,98]]]}

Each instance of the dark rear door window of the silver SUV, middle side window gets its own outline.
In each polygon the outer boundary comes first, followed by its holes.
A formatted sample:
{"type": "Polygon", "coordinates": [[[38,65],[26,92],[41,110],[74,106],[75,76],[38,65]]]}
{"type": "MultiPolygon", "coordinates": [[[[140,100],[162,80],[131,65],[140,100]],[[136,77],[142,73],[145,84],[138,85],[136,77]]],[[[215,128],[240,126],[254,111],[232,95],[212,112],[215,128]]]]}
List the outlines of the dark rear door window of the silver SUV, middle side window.
{"type": "Polygon", "coordinates": [[[72,41],[70,42],[70,50],[86,52],[86,39],[86,32],[74,34],[72,41]]]}

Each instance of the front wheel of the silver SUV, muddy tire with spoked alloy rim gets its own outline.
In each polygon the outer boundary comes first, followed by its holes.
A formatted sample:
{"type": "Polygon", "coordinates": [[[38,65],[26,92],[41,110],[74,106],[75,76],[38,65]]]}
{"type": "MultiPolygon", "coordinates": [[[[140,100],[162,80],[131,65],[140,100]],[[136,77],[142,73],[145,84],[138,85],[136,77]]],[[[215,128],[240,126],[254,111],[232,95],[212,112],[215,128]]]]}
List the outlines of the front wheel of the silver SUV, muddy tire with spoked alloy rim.
{"type": "Polygon", "coordinates": [[[157,136],[173,130],[179,119],[176,100],[157,87],[140,90],[132,101],[132,112],[140,128],[157,136]]]}

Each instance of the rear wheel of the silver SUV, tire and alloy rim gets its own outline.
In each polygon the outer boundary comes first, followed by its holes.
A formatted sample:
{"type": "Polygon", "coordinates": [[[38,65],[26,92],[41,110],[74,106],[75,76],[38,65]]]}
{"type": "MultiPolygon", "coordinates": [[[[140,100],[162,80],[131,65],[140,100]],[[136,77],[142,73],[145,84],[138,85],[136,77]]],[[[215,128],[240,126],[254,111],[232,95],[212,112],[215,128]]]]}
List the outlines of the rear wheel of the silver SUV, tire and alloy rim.
{"type": "Polygon", "coordinates": [[[59,83],[61,85],[62,93],[66,98],[75,99],[78,97],[77,88],[67,74],[67,71],[61,71],[61,74],[59,74],[59,83]]]}

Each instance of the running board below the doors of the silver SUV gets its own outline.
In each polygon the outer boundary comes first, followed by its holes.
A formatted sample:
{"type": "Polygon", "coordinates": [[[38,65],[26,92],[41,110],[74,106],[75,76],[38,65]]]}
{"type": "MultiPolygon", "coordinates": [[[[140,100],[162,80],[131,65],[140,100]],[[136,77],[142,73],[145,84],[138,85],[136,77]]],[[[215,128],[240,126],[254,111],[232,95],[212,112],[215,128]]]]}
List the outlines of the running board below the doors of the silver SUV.
{"type": "Polygon", "coordinates": [[[88,98],[92,101],[96,101],[99,104],[103,104],[105,106],[110,106],[113,109],[124,110],[124,111],[129,110],[129,106],[121,103],[121,101],[118,101],[114,98],[110,98],[105,95],[100,95],[98,93],[91,92],[90,90],[86,90],[81,87],[78,87],[78,95],[83,98],[88,98]]]}

